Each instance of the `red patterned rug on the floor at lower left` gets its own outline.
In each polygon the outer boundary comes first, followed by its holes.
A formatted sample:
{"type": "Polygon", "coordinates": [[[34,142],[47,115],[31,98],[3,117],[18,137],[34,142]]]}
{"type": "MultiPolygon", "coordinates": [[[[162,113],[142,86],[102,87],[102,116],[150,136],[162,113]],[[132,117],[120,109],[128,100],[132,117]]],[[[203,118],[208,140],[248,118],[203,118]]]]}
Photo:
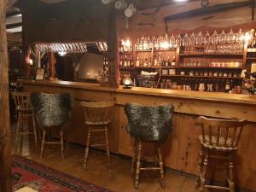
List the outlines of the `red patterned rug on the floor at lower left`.
{"type": "Polygon", "coordinates": [[[12,175],[14,191],[26,186],[39,192],[110,192],[19,155],[12,157],[12,175]]]}

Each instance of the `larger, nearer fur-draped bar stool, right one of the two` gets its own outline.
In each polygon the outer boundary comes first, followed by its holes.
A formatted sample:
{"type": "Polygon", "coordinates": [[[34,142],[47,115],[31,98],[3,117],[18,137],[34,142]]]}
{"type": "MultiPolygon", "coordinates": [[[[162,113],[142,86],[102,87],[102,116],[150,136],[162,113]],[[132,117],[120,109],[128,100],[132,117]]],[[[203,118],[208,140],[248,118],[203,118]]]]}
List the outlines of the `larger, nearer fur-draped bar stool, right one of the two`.
{"type": "MultiPolygon", "coordinates": [[[[166,103],[159,106],[142,106],[136,103],[127,103],[125,105],[125,113],[128,118],[127,131],[131,137],[135,138],[136,148],[134,148],[131,166],[132,173],[134,172],[134,166],[136,166],[135,188],[138,188],[141,170],[159,170],[160,184],[162,188],[164,188],[164,164],[160,143],[166,140],[168,133],[172,130],[172,104],[166,103]],[[157,145],[156,160],[159,166],[141,166],[143,142],[150,142],[157,145]]],[[[147,160],[146,157],[144,159],[147,160]]]]}

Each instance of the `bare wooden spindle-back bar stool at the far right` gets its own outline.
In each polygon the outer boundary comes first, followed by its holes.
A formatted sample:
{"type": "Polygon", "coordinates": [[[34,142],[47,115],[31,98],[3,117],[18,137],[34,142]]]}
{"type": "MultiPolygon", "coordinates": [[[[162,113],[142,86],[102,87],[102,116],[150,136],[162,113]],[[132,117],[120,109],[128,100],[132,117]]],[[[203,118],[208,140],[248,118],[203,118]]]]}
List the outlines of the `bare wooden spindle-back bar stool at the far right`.
{"type": "Polygon", "coordinates": [[[198,178],[200,191],[204,191],[205,188],[212,188],[235,192],[232,155],[238,149],[241,131],[247,121],[236,119],[208,119],[201,116],[198,118],[198,122],[201,124],[201,136],[199,137],[201,142],[201,160],[199,163],[198,178]],[[217,158],[228,162],[229,187],[206,184],[207,166],[210,158],[217,158]]]}

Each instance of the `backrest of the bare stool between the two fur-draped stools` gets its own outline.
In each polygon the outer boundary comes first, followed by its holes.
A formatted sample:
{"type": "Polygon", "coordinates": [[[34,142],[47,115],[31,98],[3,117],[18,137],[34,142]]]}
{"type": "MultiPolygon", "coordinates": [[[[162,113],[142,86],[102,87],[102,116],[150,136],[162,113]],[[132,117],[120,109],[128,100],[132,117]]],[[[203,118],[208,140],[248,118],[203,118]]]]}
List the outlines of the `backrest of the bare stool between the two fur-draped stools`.
{"type": "Polygon", "coordinates": [[[85,123],[96,124],[111,121],[113,102],[81,102],[84,108],[85,123]]]}

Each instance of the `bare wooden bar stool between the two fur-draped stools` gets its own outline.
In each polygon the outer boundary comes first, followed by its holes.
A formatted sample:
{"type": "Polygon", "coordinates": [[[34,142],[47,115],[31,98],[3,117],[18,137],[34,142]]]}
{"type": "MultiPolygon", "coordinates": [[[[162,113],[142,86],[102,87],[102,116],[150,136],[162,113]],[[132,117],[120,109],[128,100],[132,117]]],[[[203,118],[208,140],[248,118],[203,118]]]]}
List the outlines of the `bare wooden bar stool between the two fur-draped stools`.
{"type": "Polygon", "coordinates": [[[110,150],[108,142],[108,125],[111,123],[113,113],[113,102],[81,102],[84,108],[85,125],[88,125],[87,141],[84,154],[84,170],[87,166],[87,160],[90,147],[106,146],[108,156],[108,168],[110,169],[110,150]],[[101,126],[103,129],[92,127],[101,126]],[[106,143],[90,144],[91,132],[103,131],[106,143]]]}

